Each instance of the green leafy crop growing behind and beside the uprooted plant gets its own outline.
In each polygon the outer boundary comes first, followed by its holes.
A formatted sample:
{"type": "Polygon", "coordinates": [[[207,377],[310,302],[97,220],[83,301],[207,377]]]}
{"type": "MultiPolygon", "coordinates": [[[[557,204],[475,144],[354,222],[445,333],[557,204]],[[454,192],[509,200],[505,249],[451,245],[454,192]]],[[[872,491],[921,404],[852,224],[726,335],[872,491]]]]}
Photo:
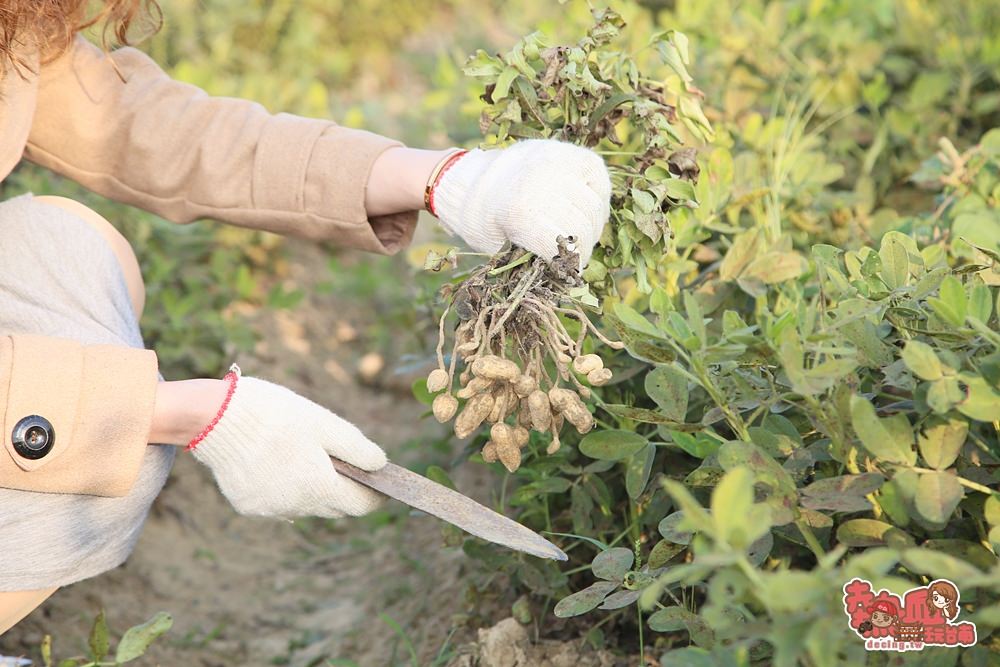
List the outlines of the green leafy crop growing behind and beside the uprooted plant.
{"type": "MultiPolygon", "coordinates": [[[[562,534],[570,566],[465,540],[483,565],[465,606],[489,621],[513,605],[542,635],[653,650],[661,665],[881,664],[847,627],[843,583],[900,592],[945,577],[979,647],[914,659],[989,664],[1000,625],[1000,135],[989,132],[1000,8],[613,6],[627,25],[608,52],[670,90],[677,70],[650,39],[687,36],[713,129],[678,137],[698,149],[697,206],[667,207],[672,238],[652,261],[614,264],[602,321],[628,348],[609,359],[618,382],[594,401],[589,443],[570,438],[550,457],[535,441],[515,475],[496,466],[497,506],[562,534]]],[[[483,139],[484,81],[462,72],[476,49],[506,57],[536,30],[573,44],[593,21],[583,2],[525,0],[175,0],[164,11],[164,32],[143,48],[173,75],[415,146],[483,139]]],[[[597,149],[628,163],[607,142],[597,149]]],[[[31,167],[4,187],[81,198],[126,230],[168,377],[218,375],[252,344],[234,303],[295,304],[280,288],[279,239],[178,228],[31,167]]],[[[361,292],[409,271],[399,258],[367,266],[369,281],[341,284],[361,292]]]]}

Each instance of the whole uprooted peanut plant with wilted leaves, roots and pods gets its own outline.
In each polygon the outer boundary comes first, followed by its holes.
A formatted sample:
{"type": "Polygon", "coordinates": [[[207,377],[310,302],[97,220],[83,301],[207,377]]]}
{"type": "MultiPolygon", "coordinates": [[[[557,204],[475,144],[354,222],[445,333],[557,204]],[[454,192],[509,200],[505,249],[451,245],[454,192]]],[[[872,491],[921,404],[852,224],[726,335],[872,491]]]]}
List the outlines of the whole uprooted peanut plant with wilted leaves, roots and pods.
{"type": "MultiPolygon", "coordinates": [[[[598,306],[594,292],[614,290],[609,268],[627,264],[637,276],[645,275],[647,262],[655,262],[670,243],[666,212],[693,205],[698,167],[693,152],[681,148],[675,125],[683,122],[698,136],[706,136],[710,127],[698,106],[700,91],[686,70],[686,38],[671,32],[653,40],[662,61],[679,77],[678,109],[667,103],[664,85],[644,78],[634,61],[607,48],[623,26],[616,12],[595,11],[593,26],[575,45],[548,47],[533,34],[504,56],[480,50],[464,68],[485,85],[482,99],[489,106],[480,128],[488,145],[516,138],[583,146],[606,141],[628,158],[609,167],[614,222],[600,240],[600,258],[592,259],[582,275],[574,239],[560,238],[559,255],[551,262],[510,248],[442,289],[448,306],[440,320],[438,368],[427,378],[428,391],[441,392],[434,398],[434,416],[440,422],[454,418],[459,438],[491,424],[482,456],[499,460],[511,472],[520,466],[532,431],[549,436],[546,451],[554,454],[565,422],[579,434],[593,428],[584,401],[591,397],[590,387],[607,384],[613,374],[584,347],[588,337],[612,349],[624,345],[602,334],[585,309],[598,306]],[[626,121],[632,129],[619,136],[626,121]],[[458,324],[446,363],[443,348],[452,311],[458,324]],[[575,321],[575,333],[564,317],[575,321]],[[453,394],[459,358],[466,369],[453,394]],[[461,412],[459,399],[466,399],[461,412]]],[[[440,270],[447,260],[429,257],[429,268],[440,270]]]]}

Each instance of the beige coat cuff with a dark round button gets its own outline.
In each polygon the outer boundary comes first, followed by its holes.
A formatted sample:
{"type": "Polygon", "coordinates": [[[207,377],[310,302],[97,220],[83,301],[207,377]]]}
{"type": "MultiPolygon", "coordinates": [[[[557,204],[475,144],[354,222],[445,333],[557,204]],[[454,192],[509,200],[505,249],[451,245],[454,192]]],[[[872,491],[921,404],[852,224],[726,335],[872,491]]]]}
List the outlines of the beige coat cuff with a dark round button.
{"type": "Polygon", "coordinates": [[[151,350],[0,336],[0,487],[127,495],[146,453],[158,381],[151,350]],[[19,446],[29,440],[32,447],[19,446]]]}

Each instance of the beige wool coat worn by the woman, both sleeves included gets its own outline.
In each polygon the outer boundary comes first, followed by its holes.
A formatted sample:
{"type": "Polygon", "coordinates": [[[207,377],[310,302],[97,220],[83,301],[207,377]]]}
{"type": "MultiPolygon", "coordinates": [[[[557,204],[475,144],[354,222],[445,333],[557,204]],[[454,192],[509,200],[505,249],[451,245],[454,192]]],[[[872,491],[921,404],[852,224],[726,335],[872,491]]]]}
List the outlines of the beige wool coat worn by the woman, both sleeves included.
{"type": "MultiPolygon", "coordinates": [[[[372,164],[398,141],[210,97],[140,51],[106,54],[83,37],[31,64],[0,81],[0,180],[23,158],[177,223],[214,218],[382,254],[413,237],[416,211],[365,211],[372,164]]],[[[152,350],[0,332],[0,487],[126,495],[157,380],[152,350]],[[35,460],[12,442],[29,415],[57,434],[35,460]]]]}

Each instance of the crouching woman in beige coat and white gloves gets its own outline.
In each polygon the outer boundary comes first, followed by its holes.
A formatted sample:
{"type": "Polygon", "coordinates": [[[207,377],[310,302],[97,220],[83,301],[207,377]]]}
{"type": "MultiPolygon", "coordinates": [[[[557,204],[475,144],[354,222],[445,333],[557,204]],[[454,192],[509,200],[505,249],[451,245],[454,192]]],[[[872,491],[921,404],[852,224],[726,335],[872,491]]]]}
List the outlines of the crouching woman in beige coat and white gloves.
{"type": "MultiPolygon", "coordinates": [[[[509,240],[552,257],[558,235],[574,236],[585,265],[608,219],[608,173],[586,149],[419,150],[212,98],[78,34],[96,23],[125,44],[158,18],[154,2],[87,7],[0,5],[0,179],[24,157],[174,222],[382,254],[410,242],[427,208],[480,251],[509,240]]],[[[385,454],[326,408],[235,367],[164,382],[138,329],[144,300],[131,247],[96,213],[30,194],[0,203],[0,632],[125,560],[174,446],[243,514],[356,516],[378,502],[328,457],[374,470],[385,454]]]]}

